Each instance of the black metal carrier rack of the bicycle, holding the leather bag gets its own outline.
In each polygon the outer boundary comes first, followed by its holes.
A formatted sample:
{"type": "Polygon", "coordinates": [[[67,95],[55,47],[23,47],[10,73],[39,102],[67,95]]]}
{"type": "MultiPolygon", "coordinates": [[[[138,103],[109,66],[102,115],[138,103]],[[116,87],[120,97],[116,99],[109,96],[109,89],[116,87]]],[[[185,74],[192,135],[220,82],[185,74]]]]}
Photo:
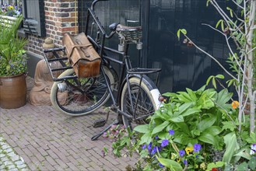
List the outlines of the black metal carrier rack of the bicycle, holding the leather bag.
{"type": "Polygon", "coordinates": [[[49,70],[51,72],[51,77],[52,77],[54,82],[62,81],[62,80],[65,80],[65,79],[77,78],[76,75],[62,77],[61,79],[58,79],[54,76],[54,73],[56,73],[56,72],[59,72],[59,71],[65,72],[65,70],[72,68],[72,66],[69,64],[69,62],[67,62],[68,58],[65,57],[65,55],[59,54],[59,52],[62,52],[63,54],[65,54],[65,47],[44,49],[43,51],[44,51],[44,60],[47,63],[47,67],[49,68],[49,70]],[[49,57],[51,57],[51,58],[49,58],[49,57]],[[61,64],[60,68],[52,68],[51,67],[51,64],[56,62],[56,61],[58,61],[61,64]]]}

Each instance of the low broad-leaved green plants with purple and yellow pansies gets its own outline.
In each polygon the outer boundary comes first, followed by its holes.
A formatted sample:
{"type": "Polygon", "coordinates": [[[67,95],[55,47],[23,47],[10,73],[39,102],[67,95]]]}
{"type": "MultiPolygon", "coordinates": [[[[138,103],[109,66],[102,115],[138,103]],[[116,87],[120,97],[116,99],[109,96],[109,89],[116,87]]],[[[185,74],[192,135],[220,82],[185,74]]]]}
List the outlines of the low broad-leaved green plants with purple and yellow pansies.
{"type": "MultiPolygon", "coordinates": [[[[114,155],[121,156],[124,148],[129,155],[139,152],[137,169],[143,170],[254,168],[250,145],[256,143],[256,138],[248,134],[247,122],[240,133],[238,102],[232,100],[233,93],[205,87],[164,93],[169,101],[149,117],[149,124],[135,127],[130,134],[118,134],[113,143],[114,155]]],[[[248,115],[245,117],[249,120],[248,115]]]]}

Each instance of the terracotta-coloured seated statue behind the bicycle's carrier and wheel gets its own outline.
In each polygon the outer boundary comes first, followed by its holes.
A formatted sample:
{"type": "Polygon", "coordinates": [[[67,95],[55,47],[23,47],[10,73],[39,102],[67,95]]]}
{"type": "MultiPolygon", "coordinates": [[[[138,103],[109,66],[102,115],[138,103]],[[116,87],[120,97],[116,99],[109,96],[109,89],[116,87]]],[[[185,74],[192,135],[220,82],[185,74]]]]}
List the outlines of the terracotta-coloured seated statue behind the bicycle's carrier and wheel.
{"type": "MultiPolygon", "coordinates": [[[[54,43],[51,38],[44,40],[43,48],[49,49],[54,48],[54,43]]],[[[52,58],[53,54],[47,56],[47,58],[52,58]]],[[[51,62],[51,68],[61,68],[61,64],[58,61],[51,62]]],[[[53,72],[54,77],[58,77],[61,72],[53,72]]],[[[51,105],[51,87],[54,84],[51,72],[47,67],[47,63],[44,59],[37,63],[35,75],[34,75],[34,86],[30,91],[30,96],[28,101],[32,105],[43,106],[51,105]]],[[[65,104],[67,98],[67,92],[61,93],[59,99],[61,99],[61,104],[65,104]]]]}

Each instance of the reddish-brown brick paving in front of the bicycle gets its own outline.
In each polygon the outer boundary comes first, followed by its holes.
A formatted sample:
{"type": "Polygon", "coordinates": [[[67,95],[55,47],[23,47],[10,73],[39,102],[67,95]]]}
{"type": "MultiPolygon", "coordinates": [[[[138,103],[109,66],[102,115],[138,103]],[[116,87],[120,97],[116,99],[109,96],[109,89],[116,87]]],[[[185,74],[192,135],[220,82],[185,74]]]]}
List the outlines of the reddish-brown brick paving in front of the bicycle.
{"type": "Polygon", "coordinates": [[[22,157],[28,170],[125,170],[136,161],[111,154],[103,158],[101,151],[110,149],[111,142],[102,137],[90,140],[103,129],[92,126],[93,120],[104,117],[102,111],[69,117],[52,106],[27,103],[19,109],[0,108],[0,113],[0,137],[22,157]]]}

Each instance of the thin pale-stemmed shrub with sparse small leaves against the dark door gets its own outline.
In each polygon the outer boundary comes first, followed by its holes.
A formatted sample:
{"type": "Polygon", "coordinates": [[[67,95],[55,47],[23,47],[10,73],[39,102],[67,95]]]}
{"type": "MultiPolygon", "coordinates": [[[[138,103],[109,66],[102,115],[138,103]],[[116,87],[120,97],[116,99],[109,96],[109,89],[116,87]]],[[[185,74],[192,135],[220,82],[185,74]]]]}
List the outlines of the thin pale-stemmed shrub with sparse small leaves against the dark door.
{"type": "MultiPolygon", "coordinates": [[[[233,0],[235,8],[223,9],[216,0],[207,0],[206,5],[212,5],[222,19],[216,23],[216,26],[209,26],[212,30],[223,36],[229,50],[227,63],[230,69],[225,68],[216,57],[198,47],[189,37],[184,29],[177,30],[177,37],[180,39],[181,33],[186,37],[186,44],[190,42],[199,51],[202,51],[209,58],[219,65],[220,68],[230,76],[227,86],[234,86],[238,96],[239,113],[238,120],[242,124],[246,107],[250,113],[250,132],[255,131],[255,99],[256,99],[256,81],[255,81],[255,64],[256,64],[256,1],[233,0]],[[236,45],[232,48],[231,42],[236,45]]],[[[212,79],[212,85],[216,86],[215,77],[212,79]]],[[[239,130],[241,127],[239,125],[239,130]]]]}

